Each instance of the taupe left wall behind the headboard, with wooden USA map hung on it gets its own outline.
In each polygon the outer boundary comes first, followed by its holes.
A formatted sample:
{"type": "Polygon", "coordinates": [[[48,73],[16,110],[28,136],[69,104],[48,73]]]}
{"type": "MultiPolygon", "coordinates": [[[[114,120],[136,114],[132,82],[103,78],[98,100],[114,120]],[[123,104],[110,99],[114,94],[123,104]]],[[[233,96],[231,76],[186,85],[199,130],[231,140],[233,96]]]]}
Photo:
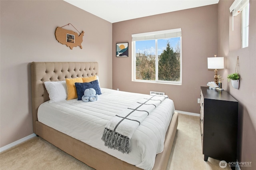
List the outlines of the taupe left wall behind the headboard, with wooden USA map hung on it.
{"type": "Polygon", "coordinates": [[[112,24],[62,0],[1,0],[0,7],[2,147],[33,133],[30,62],[98,61],[100,86],[112,89],[112,24]],[[56,27],[68,23],[85,32],[83,49],[56,40],[56,27]]]}

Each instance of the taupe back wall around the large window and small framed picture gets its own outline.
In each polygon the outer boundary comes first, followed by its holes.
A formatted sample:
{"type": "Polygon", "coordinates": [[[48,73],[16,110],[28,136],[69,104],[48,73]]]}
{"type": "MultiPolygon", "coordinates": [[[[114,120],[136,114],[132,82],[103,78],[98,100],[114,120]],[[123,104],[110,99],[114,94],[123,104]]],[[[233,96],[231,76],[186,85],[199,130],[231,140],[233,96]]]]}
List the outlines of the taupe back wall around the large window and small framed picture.
{"type": "Polygon", "coordinates": [[[207,57],[218,55],[218,4],[113,24],[113,89],[165,92],[175,109],[199,113],[200,86],[214,81],[207,57]],[[132,34],[182,29],[182,85],[132,82],[132,34]],[[129,57],[115,57],[116,43],[129,43],[129,57]]]}

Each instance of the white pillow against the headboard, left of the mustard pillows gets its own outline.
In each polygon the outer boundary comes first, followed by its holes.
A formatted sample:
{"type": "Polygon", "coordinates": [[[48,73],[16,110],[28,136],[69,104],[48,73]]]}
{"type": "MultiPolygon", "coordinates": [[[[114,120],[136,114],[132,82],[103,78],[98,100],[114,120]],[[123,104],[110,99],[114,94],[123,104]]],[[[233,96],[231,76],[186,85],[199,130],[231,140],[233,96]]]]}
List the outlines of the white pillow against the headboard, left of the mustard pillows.
{"type": "Polygon", "coordinates": [[[67,86],[66,81],[46,81],[44,82],[45,88],[49,94],[49,103],[66,100],[67,86]]]}

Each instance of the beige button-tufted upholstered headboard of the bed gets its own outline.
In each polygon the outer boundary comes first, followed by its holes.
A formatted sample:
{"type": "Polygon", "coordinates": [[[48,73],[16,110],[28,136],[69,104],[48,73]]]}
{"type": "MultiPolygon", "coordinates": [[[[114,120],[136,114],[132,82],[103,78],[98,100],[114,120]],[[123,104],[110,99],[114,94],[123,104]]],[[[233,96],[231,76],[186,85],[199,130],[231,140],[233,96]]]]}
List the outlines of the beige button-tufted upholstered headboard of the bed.
{"type": "Polygon", "coordinates": [[[33,131],[36,133],[35,123],[38,107],[49,100],[49,95],[44,87],[45,81],[62,81],[66,78],[90,77],[98,75],[97,62],[32,62],[32,115],[33,131]]]}

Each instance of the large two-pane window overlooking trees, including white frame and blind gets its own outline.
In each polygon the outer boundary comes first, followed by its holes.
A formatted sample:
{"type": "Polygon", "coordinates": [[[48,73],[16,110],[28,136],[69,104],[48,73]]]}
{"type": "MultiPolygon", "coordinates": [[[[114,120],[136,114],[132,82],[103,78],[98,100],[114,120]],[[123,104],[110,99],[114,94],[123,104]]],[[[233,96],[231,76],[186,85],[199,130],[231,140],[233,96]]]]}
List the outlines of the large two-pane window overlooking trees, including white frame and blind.
{"type": "Polygon", "coordinates": [[[132,81],[182,83],[181,28],[132,34],[132,81]]]}

